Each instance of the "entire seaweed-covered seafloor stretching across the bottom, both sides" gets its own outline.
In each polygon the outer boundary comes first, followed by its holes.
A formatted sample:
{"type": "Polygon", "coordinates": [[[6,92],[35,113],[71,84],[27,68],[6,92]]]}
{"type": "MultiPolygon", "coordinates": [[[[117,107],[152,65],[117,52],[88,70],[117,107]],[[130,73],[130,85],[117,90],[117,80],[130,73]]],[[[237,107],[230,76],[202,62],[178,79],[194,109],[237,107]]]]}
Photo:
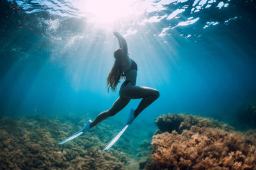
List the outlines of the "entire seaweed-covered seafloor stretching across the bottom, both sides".
{"type": "Polygon", "coordinates": [[[85,117],[1,117],[0,169],[256,169],[255,130],[239,132],[211,118],[184,114],[156,118],[155,134],[134,123],[103,153],[122,127],[115,117],[55,145],[79,131],[85,117]]]}

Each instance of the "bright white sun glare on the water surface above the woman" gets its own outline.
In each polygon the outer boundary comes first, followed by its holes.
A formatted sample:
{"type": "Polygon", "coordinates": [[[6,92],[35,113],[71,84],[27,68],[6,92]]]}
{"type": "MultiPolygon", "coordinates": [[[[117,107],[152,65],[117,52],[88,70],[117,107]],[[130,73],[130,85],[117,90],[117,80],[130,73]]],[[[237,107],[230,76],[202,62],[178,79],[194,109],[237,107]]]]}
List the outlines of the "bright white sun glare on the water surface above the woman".
{"type": "Polygon", "coordinates": [[[111,25],[120,19],[129,19],[143,13],[138,2],[136,0],[88,0],[83,3],[81,12],[87,16],[88,22],[111,25]]]}

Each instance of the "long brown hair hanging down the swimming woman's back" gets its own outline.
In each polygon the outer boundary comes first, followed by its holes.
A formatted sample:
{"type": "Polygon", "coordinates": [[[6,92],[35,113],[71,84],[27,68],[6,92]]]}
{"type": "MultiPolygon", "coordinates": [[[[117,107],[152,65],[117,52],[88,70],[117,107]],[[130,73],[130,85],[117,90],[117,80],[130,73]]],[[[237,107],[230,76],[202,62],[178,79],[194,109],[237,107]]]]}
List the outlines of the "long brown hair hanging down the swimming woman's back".
{"type": "Polygon", "coordinates": [[[108,90],[111,88],[113,91],[116,91],[116,85],[118,85],[120,78],[123,78],[123,67],[121,65],[121,57],[122,57],[122,48],[118,48],[114,52],[115,63],[112,67],[110,73],[108,74],[108,90]]]}

